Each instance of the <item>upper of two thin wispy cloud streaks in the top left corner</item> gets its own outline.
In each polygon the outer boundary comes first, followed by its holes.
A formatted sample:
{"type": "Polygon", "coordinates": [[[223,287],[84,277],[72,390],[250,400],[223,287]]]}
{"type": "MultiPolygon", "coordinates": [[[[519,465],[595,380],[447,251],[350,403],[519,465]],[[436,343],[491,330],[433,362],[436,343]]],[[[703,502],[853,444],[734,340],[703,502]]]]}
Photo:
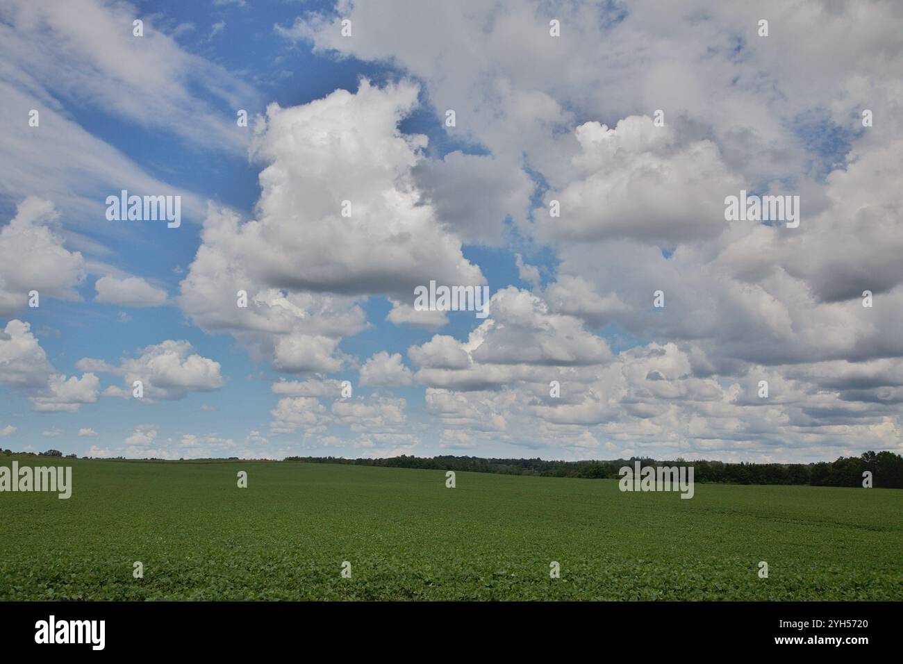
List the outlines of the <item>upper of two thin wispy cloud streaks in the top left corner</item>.
{"type": "Polygon", "coordinates": [[[52,8],[9,0],[0,16],[3,60],[27,71],[22,78],[42,95],[88,103],[198,145],[243,149],[242,133],[218,107],[247,108],[256,93],[219,65],[183,49],[157,29],[155,16],[142,16],[129,3],[98,0],[52,8]],[[135,16],[144,22],[140,39],[132,34],[135,16]],[[205,92],[197,94],[198,89],[205,92]],[[216,106],[206,101],[208,95],[216,106]]]}

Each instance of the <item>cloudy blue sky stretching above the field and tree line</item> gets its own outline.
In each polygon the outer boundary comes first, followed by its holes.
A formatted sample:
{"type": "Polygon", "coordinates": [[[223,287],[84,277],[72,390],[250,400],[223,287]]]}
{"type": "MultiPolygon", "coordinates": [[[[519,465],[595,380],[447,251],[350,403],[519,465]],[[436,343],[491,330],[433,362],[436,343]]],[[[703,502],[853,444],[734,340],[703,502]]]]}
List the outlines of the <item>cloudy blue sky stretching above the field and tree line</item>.
{"type": "Polygon", "coordinates": [[[0,0],[0,447],[900,453],[901,24],[0,0]],[[109,219],[124,190],[179,225],[109,219]],[[798,225],[728,219],[741,192],[798,225]],[[488,315],[418,310],[431,282],[488,315]]]}

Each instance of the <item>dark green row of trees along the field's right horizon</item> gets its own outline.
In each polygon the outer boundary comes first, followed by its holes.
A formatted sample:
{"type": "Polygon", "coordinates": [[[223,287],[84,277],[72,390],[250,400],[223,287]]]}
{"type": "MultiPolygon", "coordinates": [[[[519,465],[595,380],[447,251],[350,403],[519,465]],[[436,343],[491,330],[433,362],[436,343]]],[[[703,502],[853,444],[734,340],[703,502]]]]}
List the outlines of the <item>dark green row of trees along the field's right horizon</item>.
{"type": "Polygon", "coordinates": [[[507,475],[544,477],[580,477],[585,479],[619,478],[622,466],[694,467],[695,482],[726,484],[811,484],[813,486],[861,487],[863,473],[871,472],[872,486],[903,489],[903,456],[892,452],[866,452],[861,456],[840,457],[818,463],[724,463],[720,461],[655,461],[653,459],[616,459],[614,461],[543,461],[542,459],[482,459],[477,456],[395,456],[390,459],[341,459],[334,456],[290,456],[285,461],[308,463],[349,463],[389,468],[420,468],[441,471],[496,472],[507,475]]]}

